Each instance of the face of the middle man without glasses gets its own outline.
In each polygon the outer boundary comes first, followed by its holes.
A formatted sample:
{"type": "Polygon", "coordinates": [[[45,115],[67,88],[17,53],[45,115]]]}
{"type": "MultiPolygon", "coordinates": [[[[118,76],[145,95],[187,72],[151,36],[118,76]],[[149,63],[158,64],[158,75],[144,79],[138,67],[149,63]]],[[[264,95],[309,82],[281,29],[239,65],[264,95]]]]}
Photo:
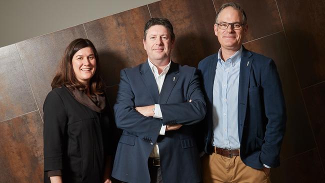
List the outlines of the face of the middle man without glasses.
{"type": "Polygon", "coordinates": [[[154,64],[168,61],[174,41],[171,40],[168,29],[163,25],[153,25],[146,33],[143,46],[148,58],[154,64]]]}

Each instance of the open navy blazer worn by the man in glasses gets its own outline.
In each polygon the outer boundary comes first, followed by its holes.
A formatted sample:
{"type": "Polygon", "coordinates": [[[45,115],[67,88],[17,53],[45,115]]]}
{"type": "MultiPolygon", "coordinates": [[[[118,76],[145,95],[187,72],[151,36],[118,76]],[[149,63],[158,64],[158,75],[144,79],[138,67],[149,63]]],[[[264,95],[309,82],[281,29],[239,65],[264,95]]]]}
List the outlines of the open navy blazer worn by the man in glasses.
{"type": "MultiPolygon", "coordinates": [[[[217,53],[198,64],[206,97],[204,151],[212,152],[211,139],[213,82],[217,53]]],[[[240,158],[248,166],[262,168],[263,163],[279,165],[280,147],[285,130],[285,104],[281,82],[271,58],[243,47],[238,86],[238,135],[240,158]]]]}

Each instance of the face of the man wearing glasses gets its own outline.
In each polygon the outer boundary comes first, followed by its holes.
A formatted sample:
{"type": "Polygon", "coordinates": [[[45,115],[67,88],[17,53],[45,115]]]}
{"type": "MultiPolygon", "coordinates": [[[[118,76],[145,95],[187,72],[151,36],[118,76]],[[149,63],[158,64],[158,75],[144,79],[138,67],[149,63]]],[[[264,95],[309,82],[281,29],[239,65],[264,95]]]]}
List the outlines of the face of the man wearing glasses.
{"type": "MultiPolygon", "coordinates": [[[[239,10],[233,7],[225,7],[217,17],[217,23],[234,23],[242,22],[242,16],[239,10]]],[[[221,48],[226,50],[236,51],[240,48],[244,35],[247,31],[247,25],[242,25],[240,29],[233,29],[228,25],[227,29],[221,29],[217,24],[214,24],[214,34],[218,37],[221,48]]]]}

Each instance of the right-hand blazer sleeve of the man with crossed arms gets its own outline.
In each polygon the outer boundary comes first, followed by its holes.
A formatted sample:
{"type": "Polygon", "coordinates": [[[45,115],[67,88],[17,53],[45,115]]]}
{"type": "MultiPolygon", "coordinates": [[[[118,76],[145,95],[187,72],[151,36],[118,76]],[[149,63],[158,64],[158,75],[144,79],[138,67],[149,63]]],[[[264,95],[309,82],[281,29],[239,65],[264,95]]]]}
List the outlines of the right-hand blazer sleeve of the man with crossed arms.
{"type": "Polygon", "coordinates": [[[173,123],[189,125],[199,122],[204,118],[206,106],[196,68],[192,69],[190,77],[188,87],[184,86],[183,88],[187,89],[187,101],[160,104],[163,125],[173,123]]]}

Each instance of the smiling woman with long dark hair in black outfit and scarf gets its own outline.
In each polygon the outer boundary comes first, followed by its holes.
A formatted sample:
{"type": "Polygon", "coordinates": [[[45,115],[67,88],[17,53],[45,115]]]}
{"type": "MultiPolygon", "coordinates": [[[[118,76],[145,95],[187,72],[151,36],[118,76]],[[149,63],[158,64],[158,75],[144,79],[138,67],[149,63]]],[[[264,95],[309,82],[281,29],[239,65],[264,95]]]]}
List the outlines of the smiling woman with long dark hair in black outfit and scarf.
{"type": "Polygon", "coordinates": [[[65,49],[44,111],[44,182],[111,182],[110,112],[88,39],[65,49]]]}

